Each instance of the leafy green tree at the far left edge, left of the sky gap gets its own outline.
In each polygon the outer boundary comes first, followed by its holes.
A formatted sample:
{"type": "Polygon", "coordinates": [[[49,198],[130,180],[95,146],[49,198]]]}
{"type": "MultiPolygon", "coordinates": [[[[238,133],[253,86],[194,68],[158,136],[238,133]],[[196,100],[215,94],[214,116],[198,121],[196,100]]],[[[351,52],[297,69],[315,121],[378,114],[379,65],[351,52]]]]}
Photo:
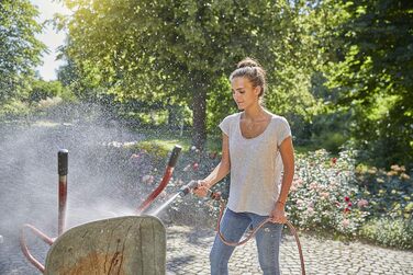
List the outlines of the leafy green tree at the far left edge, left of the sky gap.
{"type": "Polygon", "coordinates": [[[33,76],[45,45],[35,38],[42,26],[29,0],[0,2],[0,105],[19,99],[33,76]]]}

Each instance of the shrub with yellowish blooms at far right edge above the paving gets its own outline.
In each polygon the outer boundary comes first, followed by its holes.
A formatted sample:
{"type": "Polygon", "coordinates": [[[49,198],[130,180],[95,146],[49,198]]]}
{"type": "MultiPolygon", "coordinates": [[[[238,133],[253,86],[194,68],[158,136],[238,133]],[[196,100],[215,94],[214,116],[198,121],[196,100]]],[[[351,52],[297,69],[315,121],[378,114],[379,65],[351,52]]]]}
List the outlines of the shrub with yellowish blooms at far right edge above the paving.
{"type": "Polygon", "coordinates": [[[360,192],[369,197],[370,220],[360,237],[386,247],[413,248],[413,181],[403,165],[389,171],[358,165],[360,192]]]}

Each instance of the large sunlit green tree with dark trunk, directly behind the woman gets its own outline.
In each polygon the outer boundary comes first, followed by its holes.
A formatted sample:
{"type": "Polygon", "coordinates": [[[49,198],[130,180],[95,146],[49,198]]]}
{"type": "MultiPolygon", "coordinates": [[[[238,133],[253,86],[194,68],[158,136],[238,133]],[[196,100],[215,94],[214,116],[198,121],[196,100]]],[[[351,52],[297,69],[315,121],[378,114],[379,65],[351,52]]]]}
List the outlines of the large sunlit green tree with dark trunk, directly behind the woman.
{"type": "Polygon", "coordinates": [[[269,108],[304,114],[313,104],[306,89],[311,44],[298,19],[306,1],[65,2],[75,11],[67,55],[83,76],[121,101],[186,102],[197,146],[205,139],[206,101],[216,106],[223,92],[231,99],[222,81],[246,56],[275,81],[269,108]]]}

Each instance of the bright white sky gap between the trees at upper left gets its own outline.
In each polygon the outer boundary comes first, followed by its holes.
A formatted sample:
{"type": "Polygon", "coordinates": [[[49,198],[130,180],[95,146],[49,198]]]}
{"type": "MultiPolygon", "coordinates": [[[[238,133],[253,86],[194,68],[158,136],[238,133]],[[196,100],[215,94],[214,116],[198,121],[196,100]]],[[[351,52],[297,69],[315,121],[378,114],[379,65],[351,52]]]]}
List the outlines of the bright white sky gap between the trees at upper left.
{"type": "MultiPolygon", "coordinates": [[[[43,23],[45,20],[53,19],[55,13],[70,14],[70,11],[66,9],[63,3],[56,0],[30,0],[40,10],[40,15],[36,19],[38,23],[43,23]]],[[[63,60],[56,60],[57,48],[65,43],[66,34],[64,32],[56,32],[52,25],[47,25],[42,34],[37,34],[37,39],[42,41],[48,48],[47,54],[43,55],[43,65],[38,66],[36,70],[40,72],[42,79],[56,80],[56,70],[60,65],[64,65],[63,60]]]]}

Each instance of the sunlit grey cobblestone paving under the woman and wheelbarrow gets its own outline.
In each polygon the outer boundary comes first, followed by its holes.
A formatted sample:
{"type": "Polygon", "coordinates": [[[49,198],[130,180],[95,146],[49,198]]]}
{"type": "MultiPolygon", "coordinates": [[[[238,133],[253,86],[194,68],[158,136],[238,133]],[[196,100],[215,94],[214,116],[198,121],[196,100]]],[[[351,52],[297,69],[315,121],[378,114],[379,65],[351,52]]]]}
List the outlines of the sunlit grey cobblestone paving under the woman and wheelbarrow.
{"type": "MultiPolygon", "coordinates": [[[[210,229],[167,227],[167,271],[169,275],[210,274],[209,251],[214,238],[210,229]]],[[[321,240],[300,236],[306,274],[413,274],[413,252],[383,249],[360,242],[321,240]]],[[[33,243],[33,254],[44,261],[47,245],[33,243]],[[43,256],[42,256],[43,255],[43,256]]],[[[235,249],[230,274],[261,274],[254,239],[235,249]]],[[[286,234],[281,244],[282,274],[301,274],[297,244],[286,234]]],[[[40,274],[22,255],[16,240],[0,244],[1,275],[40,274]]]]}

